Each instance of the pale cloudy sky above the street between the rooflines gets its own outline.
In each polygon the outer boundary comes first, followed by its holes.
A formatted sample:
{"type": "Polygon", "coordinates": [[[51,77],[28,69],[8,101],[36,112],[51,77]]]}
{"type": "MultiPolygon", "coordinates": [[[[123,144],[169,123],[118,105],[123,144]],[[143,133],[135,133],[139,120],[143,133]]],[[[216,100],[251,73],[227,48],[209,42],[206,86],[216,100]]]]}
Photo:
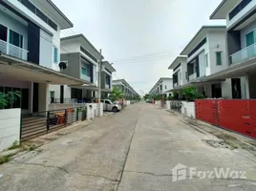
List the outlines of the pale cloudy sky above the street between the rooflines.
{"type": "Polygon", "coordinates": [[[74,23],[63,35],[83,33],[114,62],[114,78],[147,93],[222,0],[53,0],[74,23]]]}

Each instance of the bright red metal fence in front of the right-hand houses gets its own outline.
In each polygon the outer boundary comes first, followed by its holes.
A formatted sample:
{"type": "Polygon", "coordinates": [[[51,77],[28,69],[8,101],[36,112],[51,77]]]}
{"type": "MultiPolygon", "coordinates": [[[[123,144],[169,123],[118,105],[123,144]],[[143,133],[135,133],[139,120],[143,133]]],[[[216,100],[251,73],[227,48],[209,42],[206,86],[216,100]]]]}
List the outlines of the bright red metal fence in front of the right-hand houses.
{"type": "Polygon", "coordinates": [[[256,138],[256,100],[204,99],[196,100],[197,119],[256,138]]]}

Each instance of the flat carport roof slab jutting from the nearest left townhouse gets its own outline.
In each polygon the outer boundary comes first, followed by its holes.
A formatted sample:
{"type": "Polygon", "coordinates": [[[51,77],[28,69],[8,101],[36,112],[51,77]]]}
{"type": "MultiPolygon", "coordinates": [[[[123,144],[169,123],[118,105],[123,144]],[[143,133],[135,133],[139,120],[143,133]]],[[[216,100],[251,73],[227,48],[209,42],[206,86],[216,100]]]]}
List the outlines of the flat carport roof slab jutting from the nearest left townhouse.
{"type": "Polygon", "coordinates": [[[88,83],[52,69],[0,53],[0,77],[37,83],[81,85],[88,83]]]}

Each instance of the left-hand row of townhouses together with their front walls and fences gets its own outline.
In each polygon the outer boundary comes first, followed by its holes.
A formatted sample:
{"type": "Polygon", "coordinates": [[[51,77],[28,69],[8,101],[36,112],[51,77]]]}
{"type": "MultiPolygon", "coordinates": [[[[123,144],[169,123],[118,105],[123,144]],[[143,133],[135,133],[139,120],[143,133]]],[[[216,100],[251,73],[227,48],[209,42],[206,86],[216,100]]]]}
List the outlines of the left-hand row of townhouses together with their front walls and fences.
{"type": "Polygon", "coordinates": [[[104,98],[119,84],[125,98],[138,95],[113,80],[113,64],[83,34],[60,37],[73,27],[51,0],[0,0],[0,151],[101,117],[111,102],[94,103],[99,85],[104,98]],[[2,104],[2,93],[16,91],[20,97],[2,104]]]}

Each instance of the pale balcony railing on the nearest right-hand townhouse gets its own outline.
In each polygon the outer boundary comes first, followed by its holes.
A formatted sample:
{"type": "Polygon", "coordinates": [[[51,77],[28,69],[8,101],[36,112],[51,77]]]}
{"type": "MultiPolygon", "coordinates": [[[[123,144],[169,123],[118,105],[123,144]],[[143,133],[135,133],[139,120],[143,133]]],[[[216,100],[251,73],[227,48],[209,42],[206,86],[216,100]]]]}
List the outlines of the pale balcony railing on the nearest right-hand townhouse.
{"type": "Polygon", "coordinates": [[[230,55],[230,65],[245,62],[249,58],[256,57],[256,44],[230,55]]]}

